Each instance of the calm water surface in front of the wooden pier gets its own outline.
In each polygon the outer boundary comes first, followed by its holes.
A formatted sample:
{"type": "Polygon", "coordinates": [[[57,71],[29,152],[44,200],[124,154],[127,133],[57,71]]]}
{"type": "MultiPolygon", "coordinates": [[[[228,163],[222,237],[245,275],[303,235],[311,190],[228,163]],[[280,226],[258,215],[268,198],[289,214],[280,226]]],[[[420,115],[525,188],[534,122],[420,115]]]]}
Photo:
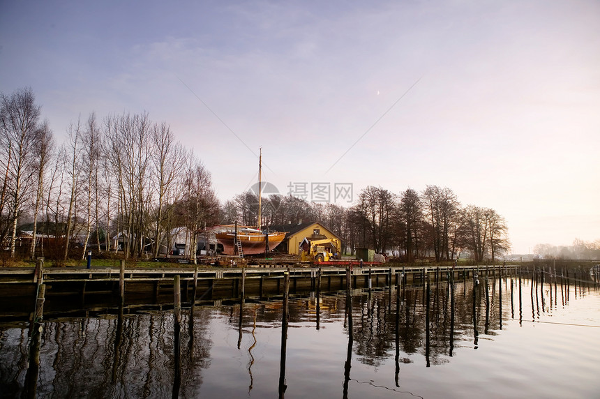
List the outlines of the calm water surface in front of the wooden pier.
{"type": "MultiPolygon", "coordinates": [[[[48,317],[34,387],[44,398],[599,397],[597,288],[490,278],[486,301],[480,282],[475,295],[456,283],[454,305],[447,283],[354,290],[352,321],[345,292],[290,294],[287,340],[281,296],[184,308],[179,340],[158,306],[48,317]]],[[[0,324],[3,398],[28,384],[29,342],[28,322],[0,324]]]]}

